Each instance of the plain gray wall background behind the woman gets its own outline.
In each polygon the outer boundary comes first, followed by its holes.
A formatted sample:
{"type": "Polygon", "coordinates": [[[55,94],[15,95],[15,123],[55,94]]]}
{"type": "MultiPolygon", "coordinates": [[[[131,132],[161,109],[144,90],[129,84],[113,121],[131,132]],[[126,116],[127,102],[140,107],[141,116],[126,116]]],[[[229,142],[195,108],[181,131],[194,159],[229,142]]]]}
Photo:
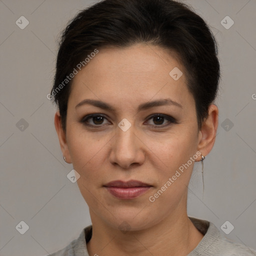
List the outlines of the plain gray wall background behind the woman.
{"type": "MultiPolygon", "coordinates": [[[[76,183],[66,177],[72,165],[62,159],[55,109],[46,94],[60,30],[79,9],[95,2],[0,0],[0,255],[45,255],[90,224],[76,183]],[[29,21],[24,29],[15,24],[21,15],[29,21]],[[15,228],[21,220],[29,226],[24,234],[15,228]]],[[[189,4],[216,35],[222,79],[216,142],[204,160],[204,194],[201,165],[195,163],[188,215],[219,229],[228,220],[234,229],[226,237],[256,248],[256,1],[189,4]],[[220,23],[226,15],[234,21],[229,29],[220,23]]]]}

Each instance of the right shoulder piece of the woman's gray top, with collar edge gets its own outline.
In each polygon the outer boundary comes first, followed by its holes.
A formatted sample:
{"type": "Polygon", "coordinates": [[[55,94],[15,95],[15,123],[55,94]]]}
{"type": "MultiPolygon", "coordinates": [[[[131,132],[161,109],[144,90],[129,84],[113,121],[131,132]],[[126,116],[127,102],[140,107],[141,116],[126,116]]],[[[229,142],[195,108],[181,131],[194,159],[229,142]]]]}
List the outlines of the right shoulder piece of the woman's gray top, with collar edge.
{"type": "Polygon", "coordinates": [[[254,249],[226,238],[212,222],[189,218],[204,236],[188,256],[256,256],[254,249]]]}

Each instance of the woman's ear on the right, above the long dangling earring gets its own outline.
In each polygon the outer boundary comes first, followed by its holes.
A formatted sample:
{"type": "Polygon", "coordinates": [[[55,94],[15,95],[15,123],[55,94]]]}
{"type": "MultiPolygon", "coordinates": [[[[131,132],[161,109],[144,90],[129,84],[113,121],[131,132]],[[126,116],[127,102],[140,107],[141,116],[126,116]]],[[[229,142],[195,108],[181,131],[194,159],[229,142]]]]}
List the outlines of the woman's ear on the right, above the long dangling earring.
{"type": "MultiPolygon", "coordinates": [[[[204,120],[198,135],[197,150],[206,156],[214,145],[218,127],[218,108],[211,104],[208,108],[208,117],[204,120]]],[[[201,155],[199,156],[201,159],[201,155]]],[[[198,159],[198,161],[200,160],[198,159]]]]}

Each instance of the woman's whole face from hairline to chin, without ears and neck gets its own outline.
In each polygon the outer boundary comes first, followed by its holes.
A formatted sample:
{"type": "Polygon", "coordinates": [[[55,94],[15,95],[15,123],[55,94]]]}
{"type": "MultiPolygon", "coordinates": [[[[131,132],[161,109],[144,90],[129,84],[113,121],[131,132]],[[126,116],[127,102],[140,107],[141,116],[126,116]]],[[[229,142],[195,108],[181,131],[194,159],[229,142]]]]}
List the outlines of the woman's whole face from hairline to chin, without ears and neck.
{"type": "Polygon", "coordinates": [[[92,221],[138,230],[186,213],[202,136],[174,53],[145,44],[99,50],[73,78],[64,136],[92,221]],[[108,184],[116,180],[124,183],[108,184]]]}

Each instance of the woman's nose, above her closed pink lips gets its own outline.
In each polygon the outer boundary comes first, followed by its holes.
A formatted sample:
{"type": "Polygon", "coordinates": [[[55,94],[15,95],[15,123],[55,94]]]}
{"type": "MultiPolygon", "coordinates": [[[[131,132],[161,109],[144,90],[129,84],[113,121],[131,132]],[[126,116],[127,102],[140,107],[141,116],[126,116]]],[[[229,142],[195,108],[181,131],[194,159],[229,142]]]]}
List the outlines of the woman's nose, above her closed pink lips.
{"type": "Polygon", "coordinates": [[[144,162],[144,143],[139,132],[131,125],[126,131],[116,127],[115,136],[111,139],[109,160],[123,169],[130,169],[144,162]]]}

